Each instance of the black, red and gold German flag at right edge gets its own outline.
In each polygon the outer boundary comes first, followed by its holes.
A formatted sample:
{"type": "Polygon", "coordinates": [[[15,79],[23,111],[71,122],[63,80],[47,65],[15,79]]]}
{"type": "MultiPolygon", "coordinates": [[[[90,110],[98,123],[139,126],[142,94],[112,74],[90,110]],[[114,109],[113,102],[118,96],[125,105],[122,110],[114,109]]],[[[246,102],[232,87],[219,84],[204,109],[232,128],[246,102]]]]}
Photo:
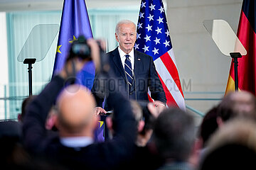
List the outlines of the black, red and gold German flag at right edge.
{"type": "MultiPolygon", "coordinates": [[[[256,2],[244,0],[238,25],[237,36],[247,50],[247,55],[238,58],[238,90],[250,91],[256,94],[256,2]]],[[[230,75],[225,94],[235,91],[235,74],[233,61],[230,67],[230,75]]]]}

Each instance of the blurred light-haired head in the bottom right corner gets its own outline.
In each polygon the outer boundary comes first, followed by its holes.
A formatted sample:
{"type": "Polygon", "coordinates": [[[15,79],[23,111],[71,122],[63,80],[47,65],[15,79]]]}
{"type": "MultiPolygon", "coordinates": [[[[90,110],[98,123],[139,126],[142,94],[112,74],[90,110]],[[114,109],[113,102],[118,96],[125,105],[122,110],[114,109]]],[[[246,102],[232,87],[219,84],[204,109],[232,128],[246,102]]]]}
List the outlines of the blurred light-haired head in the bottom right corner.
{"type": "Polygon", "coordinates": [[[209,140],[199,169],[255,169],[256,125],[236,118],[225,123],[209,140]]]}

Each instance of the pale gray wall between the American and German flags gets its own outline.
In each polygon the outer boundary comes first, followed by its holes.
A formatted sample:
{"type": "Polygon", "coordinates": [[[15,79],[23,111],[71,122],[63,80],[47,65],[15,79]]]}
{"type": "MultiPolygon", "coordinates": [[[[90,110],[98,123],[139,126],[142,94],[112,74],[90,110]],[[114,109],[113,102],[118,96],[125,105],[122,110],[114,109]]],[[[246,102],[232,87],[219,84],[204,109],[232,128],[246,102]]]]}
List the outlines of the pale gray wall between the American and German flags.
{"type": "MultiPolygon", "coordinates": [[[[166,17],[185,98],[221,98],[231,58],[223,55],[203,27],[203,21],[223,19],[237,32],[242,0],[169,0],[166,17]],[[185,82],[185,84],[184,84],[185,82]],[[191,83],[191,86],[188,86],[191,83]],[[187,87],[186,87],[187,86],[187,87]],[[203,91],[208,94],[201,93],[203,91]]],[[[205,113],[219,101],[190,101],[205,113]]]]}

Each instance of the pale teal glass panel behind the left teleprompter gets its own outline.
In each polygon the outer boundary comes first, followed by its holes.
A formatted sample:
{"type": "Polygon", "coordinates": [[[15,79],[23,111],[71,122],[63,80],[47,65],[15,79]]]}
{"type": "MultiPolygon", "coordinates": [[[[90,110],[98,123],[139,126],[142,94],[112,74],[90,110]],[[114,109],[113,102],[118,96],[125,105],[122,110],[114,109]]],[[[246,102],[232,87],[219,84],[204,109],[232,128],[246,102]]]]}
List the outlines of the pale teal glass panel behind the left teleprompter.
{"type": "Polygon", "coordinates": [[[6,13],[9,84],[6,86],[5,113],[0,113],[0,118],[17,118],[21,113],[21,103],[28,96],[28,64],[23,64],[23,58],[41,60],[32,65],[33,94],[38,94],[50,81],[60,16],[61,11],[6,13]],[[34,40],[29,42],[30,39],[34,40]]]}

